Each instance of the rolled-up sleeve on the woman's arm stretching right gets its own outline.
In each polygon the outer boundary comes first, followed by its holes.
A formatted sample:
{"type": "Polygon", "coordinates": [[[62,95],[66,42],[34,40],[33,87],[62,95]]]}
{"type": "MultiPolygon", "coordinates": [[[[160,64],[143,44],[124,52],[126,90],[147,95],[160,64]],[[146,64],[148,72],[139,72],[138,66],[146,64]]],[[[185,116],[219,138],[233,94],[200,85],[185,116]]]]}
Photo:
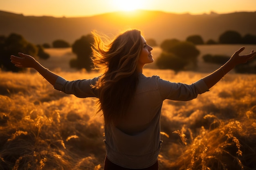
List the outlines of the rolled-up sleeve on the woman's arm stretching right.
{"type": "Polygon", "coordinates": [[[209,91],[203,79],[198,80],[193,84],[182,84],[169,82],[163,79],[158,79],[158,85],[162,99],[171,99],[178,101],[189,101],[195,99],[198,94],[209,91]]]}

